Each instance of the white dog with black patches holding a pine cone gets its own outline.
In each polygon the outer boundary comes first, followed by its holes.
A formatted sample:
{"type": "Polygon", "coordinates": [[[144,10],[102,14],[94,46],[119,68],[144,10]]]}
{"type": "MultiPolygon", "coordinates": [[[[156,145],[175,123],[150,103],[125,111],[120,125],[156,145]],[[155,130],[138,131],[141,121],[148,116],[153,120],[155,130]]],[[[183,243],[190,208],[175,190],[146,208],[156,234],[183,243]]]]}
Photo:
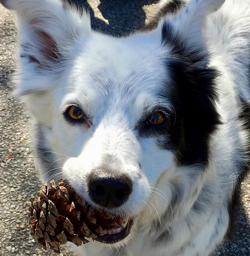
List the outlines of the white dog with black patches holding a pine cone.
{"type": "Polygon", "coordinates": [[[60,0],[1,3],[42,179],[122,220],[75,253],[211,255],[250,166],[250,2],[163,0],[122,38],[60,0]]]}

